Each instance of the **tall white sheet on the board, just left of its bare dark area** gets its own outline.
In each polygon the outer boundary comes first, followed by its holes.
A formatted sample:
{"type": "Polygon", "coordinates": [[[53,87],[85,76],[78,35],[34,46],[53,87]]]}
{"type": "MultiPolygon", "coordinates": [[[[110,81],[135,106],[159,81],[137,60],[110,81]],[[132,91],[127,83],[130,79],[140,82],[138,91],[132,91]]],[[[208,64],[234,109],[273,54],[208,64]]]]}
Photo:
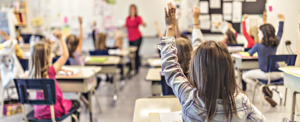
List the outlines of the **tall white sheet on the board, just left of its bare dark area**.
{"type": "Polygon", "coordinates": [[[232,2],[232,22],[239,23],[242,19],[242,2],[232,2]]]}

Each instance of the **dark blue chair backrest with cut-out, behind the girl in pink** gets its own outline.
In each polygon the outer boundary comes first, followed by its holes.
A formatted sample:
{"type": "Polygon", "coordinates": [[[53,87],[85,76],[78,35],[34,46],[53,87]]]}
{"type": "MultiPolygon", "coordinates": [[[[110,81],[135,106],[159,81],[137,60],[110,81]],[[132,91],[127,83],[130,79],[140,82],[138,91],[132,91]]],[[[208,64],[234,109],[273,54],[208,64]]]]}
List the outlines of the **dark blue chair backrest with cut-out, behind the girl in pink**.
{"type": "Polygon", "coordinates": [[[21,104],[53,105],[56,103],[53,79],[14,79],[21,104]],[[28,89],[43,90],[44,100],[29,100],[28,89]]]}

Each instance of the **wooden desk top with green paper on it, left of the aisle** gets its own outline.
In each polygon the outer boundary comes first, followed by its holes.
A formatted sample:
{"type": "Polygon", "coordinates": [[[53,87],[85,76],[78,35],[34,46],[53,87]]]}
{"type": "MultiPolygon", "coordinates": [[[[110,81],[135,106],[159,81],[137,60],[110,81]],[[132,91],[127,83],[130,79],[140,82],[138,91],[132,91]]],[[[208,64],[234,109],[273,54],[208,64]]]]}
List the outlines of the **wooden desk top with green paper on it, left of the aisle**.
{"type": "MultiPolygon", "coordinates": [[[[89,56],[92,57],[92,56],[89,56]]],[[[99,55],[99,56],[93,56],[93,57],[107,57],[107,60],[105,62],[87,62],[89,57],[85,58],[85,65],[117,65],[119,64],[121,57],[119,56],[112,56],[112,55],[99,55]]]]}

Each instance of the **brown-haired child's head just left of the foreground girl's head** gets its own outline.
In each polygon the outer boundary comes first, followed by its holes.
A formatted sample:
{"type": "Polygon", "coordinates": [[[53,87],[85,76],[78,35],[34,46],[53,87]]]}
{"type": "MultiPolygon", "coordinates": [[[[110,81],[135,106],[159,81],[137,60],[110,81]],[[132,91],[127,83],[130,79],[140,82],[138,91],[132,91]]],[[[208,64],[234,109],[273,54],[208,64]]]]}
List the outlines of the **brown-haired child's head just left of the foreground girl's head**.
{"type": "Polygon", "coordinates": [[[178,38],[176,39],[177,57],[178,63],[183,69],[184,73],[189,70],[189,63],[191,60],[191,52],[193,51],[192,43],[188,39],[178,38]]]}

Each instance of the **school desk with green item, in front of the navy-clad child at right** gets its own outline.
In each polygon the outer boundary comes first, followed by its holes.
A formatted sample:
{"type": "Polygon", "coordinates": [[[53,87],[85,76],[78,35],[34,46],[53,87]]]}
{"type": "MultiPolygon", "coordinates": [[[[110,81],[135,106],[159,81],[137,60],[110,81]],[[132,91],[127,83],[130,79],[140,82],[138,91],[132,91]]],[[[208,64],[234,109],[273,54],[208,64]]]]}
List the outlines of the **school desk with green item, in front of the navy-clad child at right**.
{"type": "Polygon", "coordinates": [[[259,69],[258,57],[243,57],[237,54],[231,54],[231,57],[234,58],[237,68],[237,84],[242,82],[242,70],[259,69]]]}

